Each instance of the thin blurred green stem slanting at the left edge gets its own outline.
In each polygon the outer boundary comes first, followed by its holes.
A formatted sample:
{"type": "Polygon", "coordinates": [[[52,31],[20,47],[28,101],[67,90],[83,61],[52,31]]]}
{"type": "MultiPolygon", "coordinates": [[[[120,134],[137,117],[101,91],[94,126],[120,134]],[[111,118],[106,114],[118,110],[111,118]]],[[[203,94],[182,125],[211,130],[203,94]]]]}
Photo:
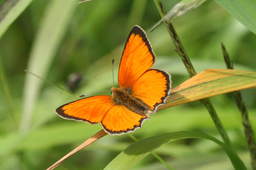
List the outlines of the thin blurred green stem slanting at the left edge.
{"type": "Polygon", "coordinates": [[[12,117],[15,128],[18,128],[17,120],[16,120],[15,115],[14,115],[14,104],[13,104],[10,89],[9,89],[9,86],[8,86],[8,83],[7,83],[7,80],[6,80],[6,74],[4,72],[3,62],[2,62],[1,57],[0,57],[0,79],[1,79],[1,82],[3,84],[3,91],[4,91],[4,95],[5,95],[7,103],[8,103],[8,107],[9,107],[9,110],[10,110],[10,115],[12,117]]]}

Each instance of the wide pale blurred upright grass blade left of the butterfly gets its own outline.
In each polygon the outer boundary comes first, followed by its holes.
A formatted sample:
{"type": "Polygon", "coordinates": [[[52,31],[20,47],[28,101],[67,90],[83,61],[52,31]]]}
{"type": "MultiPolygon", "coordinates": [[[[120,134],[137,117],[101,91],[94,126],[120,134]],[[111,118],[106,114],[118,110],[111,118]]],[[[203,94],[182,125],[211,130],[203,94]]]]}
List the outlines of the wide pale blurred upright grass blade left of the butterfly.
{"type": "MultiPolygon", "coordinates": [[[[65,2],[54,0],[48,4],[31,49],[27,70],[42,78],[46,76],[74,7],[77,5],[75,2],[75,0],[65,2]]],[[[21,132],[25,133],[29,130],[33,107],[41,86],[41,80],[33,75],[26,75],[21,132]]]]}

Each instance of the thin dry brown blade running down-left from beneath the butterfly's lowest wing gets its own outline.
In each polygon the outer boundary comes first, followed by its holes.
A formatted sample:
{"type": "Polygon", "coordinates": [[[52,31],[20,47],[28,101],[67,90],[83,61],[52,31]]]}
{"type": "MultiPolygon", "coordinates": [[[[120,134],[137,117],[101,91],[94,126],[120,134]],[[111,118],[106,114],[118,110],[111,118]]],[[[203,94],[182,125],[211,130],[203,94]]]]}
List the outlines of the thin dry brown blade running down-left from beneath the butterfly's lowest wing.
{"type": "Polygon", "coordinates": [[[52,170],[54,168],[56,168],[59,164],[61,164],[65,159],[67,159],[68,157],[70,157],[71,155],[73,155],[74,153],[76,153],[77,151],[83,149],[84,147],[90,145],[91,143],[95,142],[96,140],[102,138],[103,136],[107,135],[107,133],[102,129],[101,131],[99,131],[98,133],[96,133],[95,135],[93,135],[92,137],[90,137],[89,139],[87,139],[84,143],[82,143],[80,146],[78,146],[77,148],[75,148],[73,151],[69,152],[67,155],[63,156],[60,160],[58,160],[56,163],[54,163],[52,166],[50,166],[49,168],[47,168],[47,170],[52,170]]]}

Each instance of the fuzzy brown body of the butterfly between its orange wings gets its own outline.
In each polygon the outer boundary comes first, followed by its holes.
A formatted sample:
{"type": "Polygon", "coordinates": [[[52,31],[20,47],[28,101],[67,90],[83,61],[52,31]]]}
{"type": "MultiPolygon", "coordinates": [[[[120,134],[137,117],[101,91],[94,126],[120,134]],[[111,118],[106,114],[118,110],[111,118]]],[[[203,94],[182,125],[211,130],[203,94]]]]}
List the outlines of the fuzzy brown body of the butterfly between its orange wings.
{"type": "Polygon", "coordinates": [[[126,89],[124,87],[112,87],[111,90],[112,100],[114,100],[115,105],[122,104],[131,111],[142,115],[152,113],[150,106],[145,104],[140,99],[132,96],[131,89],[126,89]]]}

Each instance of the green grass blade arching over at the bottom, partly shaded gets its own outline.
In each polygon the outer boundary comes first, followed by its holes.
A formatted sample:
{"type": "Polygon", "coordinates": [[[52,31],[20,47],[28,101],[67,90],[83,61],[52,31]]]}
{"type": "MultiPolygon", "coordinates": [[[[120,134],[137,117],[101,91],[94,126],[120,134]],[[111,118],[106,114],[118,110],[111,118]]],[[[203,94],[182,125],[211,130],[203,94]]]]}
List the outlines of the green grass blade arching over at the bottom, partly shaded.
{"type": "Polygon", "coordinates": [[[139,160],[141,160],[149,153],[153,152],[155,149],[171,141],[184,138],[201,138],[211,140],[220,147],[222,147],[222,149],[227,153],[235,169],[246,169],[238,155],[234,153],[232,150],[230,150],[225,143],[207,134],[192,131],[166,133],[142,139],[130,145],[123,152],[117,155],[104,169],[130,169],[139,160]]]}

